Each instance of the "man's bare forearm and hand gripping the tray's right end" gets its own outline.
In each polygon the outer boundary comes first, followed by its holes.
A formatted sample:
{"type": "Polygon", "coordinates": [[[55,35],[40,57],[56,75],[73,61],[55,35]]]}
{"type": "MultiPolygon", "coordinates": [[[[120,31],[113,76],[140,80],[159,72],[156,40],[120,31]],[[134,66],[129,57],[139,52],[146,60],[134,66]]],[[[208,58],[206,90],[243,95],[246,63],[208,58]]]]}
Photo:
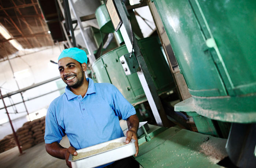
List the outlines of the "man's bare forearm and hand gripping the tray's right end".
{"type": "Polygon", "coordinates": [[[126,132],[126,144],[130,143],[131,138],[135,139],[135,147],[136,147],[136,153],[135,153],[135,157],[138,155],[139,153],[139,145],[138,145],[138,138],[137,138],[137,131],[138,131],[138,127],[139,127],[139,119],[137,117],[137,115],[132,115],[130,116],[127,120],[127,126],[128,126],[128,131],[126,132]]]}

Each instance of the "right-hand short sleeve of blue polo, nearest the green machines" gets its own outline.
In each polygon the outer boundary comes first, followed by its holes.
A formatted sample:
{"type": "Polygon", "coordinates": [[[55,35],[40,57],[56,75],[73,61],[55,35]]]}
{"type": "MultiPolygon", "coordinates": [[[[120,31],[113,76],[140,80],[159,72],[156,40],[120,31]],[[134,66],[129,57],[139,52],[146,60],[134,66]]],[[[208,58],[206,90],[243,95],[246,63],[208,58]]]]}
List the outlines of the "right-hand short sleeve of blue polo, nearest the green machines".
{"type": "Polygon", "coordinates": [[[130,116],[136,114],[135,108],[129,101],[123,97],[122,93],[114,86],[113,92],[114,111],[116,116],[119,116],[123,120],[127,120],[130,116]]]}

